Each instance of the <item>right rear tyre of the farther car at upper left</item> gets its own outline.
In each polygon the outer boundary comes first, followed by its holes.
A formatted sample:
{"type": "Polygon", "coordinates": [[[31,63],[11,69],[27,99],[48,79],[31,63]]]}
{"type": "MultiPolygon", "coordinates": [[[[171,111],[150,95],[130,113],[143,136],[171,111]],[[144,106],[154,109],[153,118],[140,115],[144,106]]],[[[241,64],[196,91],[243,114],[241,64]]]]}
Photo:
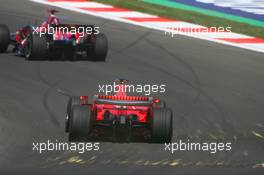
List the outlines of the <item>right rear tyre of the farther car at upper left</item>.
{"type": "Polygon", "coordinates": [[[105,61],[108,51],[108,40],[105,34],[95,35],[93,46],[87,49],[87,58],[92,61],[105,61]]]}

